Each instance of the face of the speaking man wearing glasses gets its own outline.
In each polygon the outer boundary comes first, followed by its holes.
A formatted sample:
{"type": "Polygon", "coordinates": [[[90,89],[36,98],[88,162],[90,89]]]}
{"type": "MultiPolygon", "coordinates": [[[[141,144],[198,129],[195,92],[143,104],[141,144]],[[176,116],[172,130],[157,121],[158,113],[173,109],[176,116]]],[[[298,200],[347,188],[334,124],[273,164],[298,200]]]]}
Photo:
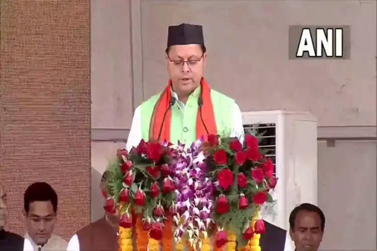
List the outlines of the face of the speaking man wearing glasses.
{"type": "Polygon", "coordinates": [[[166,62],[173,90],[178,96],[188,96],[200,85],[206,66],[206,54],[200,45],[171,46],[166,62]]]}

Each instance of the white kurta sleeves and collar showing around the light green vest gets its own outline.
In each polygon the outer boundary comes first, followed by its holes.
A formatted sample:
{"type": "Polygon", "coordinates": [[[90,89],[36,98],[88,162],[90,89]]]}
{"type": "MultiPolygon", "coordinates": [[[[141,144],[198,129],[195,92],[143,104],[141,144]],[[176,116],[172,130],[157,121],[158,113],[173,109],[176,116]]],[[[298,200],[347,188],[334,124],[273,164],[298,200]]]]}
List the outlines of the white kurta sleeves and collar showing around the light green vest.
{"type": "MultiPolygon", "coordinates": [[[[176,102],[174,105],[178,105],[180,111],[183,112],[185,104],[178,100],[178,95],[172,92],[175,97],[176,102]]],[[[142,139],[141,134],[141,107],[140,105],[135,109],[134,117],[132,118],[131,130],[128,135],[126,150],[130,151],[133,147],[137,147],[142,139]]],[[[234,103],[233,114],[230,118],[233,121],[233,127],[230,137],[237,137],[241,142],[243,142],[245,133],[242,124],[242,114],[238,104],[234,103]]]]}

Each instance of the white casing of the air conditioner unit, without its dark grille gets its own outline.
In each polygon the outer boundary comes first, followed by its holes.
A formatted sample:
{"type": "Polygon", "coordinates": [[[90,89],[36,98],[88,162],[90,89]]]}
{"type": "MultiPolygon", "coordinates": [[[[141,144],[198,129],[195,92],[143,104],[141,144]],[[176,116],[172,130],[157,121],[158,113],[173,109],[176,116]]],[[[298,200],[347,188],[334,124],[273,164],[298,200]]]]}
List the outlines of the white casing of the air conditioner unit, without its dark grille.
{"type": "Polygon", "coordinates": [[[246,133],[263,134],[260,148],[268,150],[278,177],[274,213],[265,220],[289,229],[295,206],[317,204],[317,119],[309,112],[286,110],[243,112],[242,117],[246,133]]]}

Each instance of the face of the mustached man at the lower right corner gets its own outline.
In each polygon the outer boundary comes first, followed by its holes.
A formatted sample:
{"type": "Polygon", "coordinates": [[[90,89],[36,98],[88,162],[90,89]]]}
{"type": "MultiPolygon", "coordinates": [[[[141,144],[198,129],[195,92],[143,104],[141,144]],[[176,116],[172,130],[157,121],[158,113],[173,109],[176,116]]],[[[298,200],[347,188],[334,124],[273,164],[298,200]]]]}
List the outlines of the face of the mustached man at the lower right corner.
{"type": "Polygon", "coordinates": [[[290,236],[297,251],[317,251],[322,241],[321,218],[315,212],[300,211],[290,236]]]}

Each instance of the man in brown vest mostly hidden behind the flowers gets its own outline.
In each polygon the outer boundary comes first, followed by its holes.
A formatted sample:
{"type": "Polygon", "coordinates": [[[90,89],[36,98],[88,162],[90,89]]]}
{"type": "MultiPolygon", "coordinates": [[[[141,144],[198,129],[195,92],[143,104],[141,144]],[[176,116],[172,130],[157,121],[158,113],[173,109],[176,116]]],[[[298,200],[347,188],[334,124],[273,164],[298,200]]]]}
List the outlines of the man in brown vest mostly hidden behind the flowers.
{"type": "MultiPolygon", "coordinates": [[[[102,175],[100,188],[105,188],[108,173],[102,175]]],[[[76,232],[68,242],[67,251],[118,251],[119,214],[105,213],[76,232]]]]}

